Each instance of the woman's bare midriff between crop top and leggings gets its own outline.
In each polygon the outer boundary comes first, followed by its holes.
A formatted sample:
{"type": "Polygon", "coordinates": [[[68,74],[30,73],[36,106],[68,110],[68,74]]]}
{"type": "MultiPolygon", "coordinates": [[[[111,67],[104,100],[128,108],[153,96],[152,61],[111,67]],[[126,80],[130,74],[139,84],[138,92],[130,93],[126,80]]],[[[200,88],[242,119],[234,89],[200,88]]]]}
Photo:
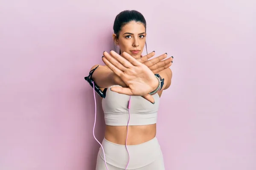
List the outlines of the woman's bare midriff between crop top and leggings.
{"type": "MultiPolygon", "coordinates": [[[[128,126],[127,145],[136,145],[148,142],[156,136],[156,124],[128,126]]],[[[125,145],[127,126],[106,125],[105,139],[115,144],[125,145]]]]}

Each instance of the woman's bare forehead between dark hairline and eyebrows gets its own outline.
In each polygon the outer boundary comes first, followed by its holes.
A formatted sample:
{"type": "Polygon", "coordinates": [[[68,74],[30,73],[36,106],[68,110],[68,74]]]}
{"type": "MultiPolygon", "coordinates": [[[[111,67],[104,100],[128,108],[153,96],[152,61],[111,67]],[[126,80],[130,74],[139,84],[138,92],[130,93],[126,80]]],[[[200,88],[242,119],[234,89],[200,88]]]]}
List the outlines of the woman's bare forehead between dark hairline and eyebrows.
{"type": "Polygon", "coordinates": [[[130,32],[133,34],[140,34],[142,32],[145,32],[145,26],[143,23],[131,21],[125,26],[122,27],[122,32],[130,32]]]}

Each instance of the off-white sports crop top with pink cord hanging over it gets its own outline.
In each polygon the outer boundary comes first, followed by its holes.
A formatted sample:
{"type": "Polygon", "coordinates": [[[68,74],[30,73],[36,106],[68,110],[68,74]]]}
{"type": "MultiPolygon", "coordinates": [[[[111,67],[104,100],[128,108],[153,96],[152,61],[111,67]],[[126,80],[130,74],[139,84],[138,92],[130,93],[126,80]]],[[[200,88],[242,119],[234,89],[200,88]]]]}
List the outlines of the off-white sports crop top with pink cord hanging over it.
{"type": "MultiPolygon", "coordinates": [[[[110,126],[126,126],[129,119],[130,96],[111,91],[111,87],[107,89],[106,97],[102,99],[105,123],[110,126]]],[[[155,104],[141,96],[131,96],[129,125],[152,125],[157,122],[160,97],[158,94],[154,94],[153,97],[155,104]]]]}

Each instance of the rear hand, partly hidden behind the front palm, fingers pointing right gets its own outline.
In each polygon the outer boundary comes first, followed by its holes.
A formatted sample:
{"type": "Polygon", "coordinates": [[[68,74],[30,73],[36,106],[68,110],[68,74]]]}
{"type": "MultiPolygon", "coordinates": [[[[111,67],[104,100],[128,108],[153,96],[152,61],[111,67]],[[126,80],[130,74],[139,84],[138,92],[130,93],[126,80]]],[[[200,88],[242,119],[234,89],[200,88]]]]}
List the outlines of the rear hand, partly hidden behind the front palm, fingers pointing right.
{"type": "Polygon", "coordinates": [[[162,54],[154,59],[150,59],[153,57],[155,52],[151,52],[148,55],[141,56],[141,58],[137,59],[137,61],[145,64],[148,66],[148,68],[154,73],[157,74],[160,71],[163,71],[166,68],[169,68],[172,65],[172,59],[173,57],[170,57],[169,59],[165,59],[167,57],[167,53],[162,54]],[[150,60],[148,60],[150,59],[150,60]],[[165,60],[163,60],[165,59],[165,60]],[[163,61],[162,61],[163,60],[163,61]]]}

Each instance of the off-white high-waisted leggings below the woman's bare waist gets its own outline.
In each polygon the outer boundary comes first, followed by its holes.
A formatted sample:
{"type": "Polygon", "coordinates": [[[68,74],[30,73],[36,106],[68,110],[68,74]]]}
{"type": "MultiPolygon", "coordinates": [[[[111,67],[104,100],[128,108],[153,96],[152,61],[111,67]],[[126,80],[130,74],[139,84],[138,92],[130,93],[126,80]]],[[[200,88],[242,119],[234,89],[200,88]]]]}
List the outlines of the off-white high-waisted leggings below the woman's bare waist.
{"type": "MultiPolygon", "coordinates": [[[[125,145],[114,144],[104,138],[102,146],[108,170],[125,170],[128,163],[125,145]]],[[[165,170],[163,154],[156,137],[142,144],[128,145],[127,148],[130,155],[127,170],[165,170]]],[[[101,147],[97,156],[96,170],[107,170],[101,147]]]]}

